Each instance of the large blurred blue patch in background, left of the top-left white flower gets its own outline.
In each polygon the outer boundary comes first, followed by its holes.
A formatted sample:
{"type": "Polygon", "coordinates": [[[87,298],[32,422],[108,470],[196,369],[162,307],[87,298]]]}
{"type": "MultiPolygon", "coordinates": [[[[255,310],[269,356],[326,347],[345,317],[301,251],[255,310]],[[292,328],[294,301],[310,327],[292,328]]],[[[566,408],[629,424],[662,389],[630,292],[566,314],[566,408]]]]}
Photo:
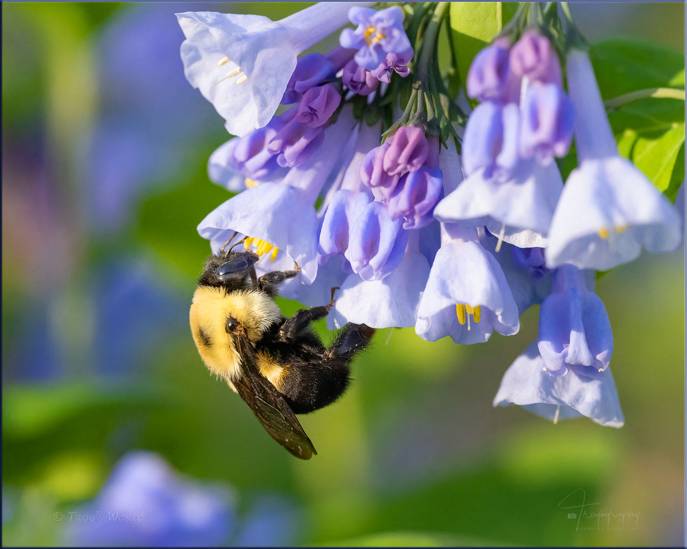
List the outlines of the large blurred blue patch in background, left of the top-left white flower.
{"type": "Polygon", "coordinates": [[[124,226],[146,189],[178,180],[194,158],[189,144],[221,128],[212,106],[188,86],[181,60],[170,55],[182,38],[170,6],[154,3],[121,10],[100,37],[100,117],[85,155],[94,231],[124,226]]]}

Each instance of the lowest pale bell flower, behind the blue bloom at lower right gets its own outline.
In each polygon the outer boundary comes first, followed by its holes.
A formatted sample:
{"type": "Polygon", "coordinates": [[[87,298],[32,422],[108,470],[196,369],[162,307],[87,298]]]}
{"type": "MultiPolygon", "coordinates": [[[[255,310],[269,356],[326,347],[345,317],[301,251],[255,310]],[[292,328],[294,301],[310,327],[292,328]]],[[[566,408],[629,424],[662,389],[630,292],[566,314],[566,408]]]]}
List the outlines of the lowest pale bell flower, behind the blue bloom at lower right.
{"type": "Polygon", "coordinates": [[[494,406],[517,404],[554,423],[584,416],[599,425],[615,428],[624,425],[610,370],[592,378],[572,370],[567,375],[550,375],[545,367],[534,341],[504,374],[494,406]]]}

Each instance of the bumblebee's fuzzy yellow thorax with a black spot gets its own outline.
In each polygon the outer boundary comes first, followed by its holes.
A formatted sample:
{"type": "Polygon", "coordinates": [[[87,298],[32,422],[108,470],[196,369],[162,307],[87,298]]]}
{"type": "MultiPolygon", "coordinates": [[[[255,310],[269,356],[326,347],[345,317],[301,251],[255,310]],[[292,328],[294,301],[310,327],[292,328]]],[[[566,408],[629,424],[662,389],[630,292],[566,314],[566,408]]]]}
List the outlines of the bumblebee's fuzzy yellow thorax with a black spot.
{"type": "Polygon", "coordinates": [[[224,379],[236,379],[240,356],[225,329],[233,316],[255,344],[273,323],[281,318],[277,304],[263,292],[199,286],[193,294],[190,325],[198,352],[210,372],[224,379]]]}

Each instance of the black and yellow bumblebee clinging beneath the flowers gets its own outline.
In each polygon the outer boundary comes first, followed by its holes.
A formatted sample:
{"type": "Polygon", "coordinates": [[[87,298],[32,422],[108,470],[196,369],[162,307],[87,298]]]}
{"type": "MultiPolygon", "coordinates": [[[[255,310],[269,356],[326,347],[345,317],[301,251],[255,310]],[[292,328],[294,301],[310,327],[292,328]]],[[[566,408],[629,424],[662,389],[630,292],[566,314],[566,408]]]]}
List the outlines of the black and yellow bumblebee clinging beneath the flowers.
{"type": "Polygon", "coordinates": [[[227,251],[225,244],[205,260],[190,310],[191,333],[207,369],[225,379],[272,438],[297,458],[310,459],[317,452],[295,414],[328,406],[343,394],[350,362],[374,329],[349,323],[325,347],[311,323],[327,316],[337,288],[327,305],[285,318],[274,298],[298,266],[258,278],[258,255],[232,251],[243,242],[227,251]]]}

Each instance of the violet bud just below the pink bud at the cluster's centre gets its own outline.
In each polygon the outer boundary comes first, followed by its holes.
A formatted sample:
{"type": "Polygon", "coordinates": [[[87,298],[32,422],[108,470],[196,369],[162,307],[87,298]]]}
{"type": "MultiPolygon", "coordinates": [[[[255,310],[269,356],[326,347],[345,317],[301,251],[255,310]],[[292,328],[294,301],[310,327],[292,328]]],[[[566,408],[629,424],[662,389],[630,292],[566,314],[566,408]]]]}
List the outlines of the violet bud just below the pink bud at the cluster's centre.
{"type": "Polygon", "coordinates": [[[442,191],[442,173],[436,168],[421,167],[405,174],[389,198],[392,220],[405,218],[403,229],[421,229],[433,220],[434,206],[442,191]]]}

